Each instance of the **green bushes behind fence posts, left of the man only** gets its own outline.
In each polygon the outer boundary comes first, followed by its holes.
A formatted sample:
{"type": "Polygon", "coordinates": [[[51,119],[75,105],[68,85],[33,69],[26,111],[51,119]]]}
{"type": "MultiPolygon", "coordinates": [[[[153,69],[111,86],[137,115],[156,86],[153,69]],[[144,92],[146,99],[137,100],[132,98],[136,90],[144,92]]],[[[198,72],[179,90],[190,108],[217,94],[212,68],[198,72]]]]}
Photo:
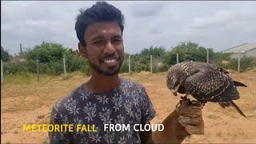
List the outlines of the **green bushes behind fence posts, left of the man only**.
{"type": "Polygon", "coordinates": [[[82,71],[90,75],[89,62],[83,59],[78,50],[68,49],[54,42],[42,42],[41,45],[27,49],[23,53],[26,62],[6,64],[5,69],[10,74],[18,74],[21,71],[37,73],[37,59],[40,74],[62,74],[64,72],[63,58],[65,58],[66,72],[82,71]]]}

